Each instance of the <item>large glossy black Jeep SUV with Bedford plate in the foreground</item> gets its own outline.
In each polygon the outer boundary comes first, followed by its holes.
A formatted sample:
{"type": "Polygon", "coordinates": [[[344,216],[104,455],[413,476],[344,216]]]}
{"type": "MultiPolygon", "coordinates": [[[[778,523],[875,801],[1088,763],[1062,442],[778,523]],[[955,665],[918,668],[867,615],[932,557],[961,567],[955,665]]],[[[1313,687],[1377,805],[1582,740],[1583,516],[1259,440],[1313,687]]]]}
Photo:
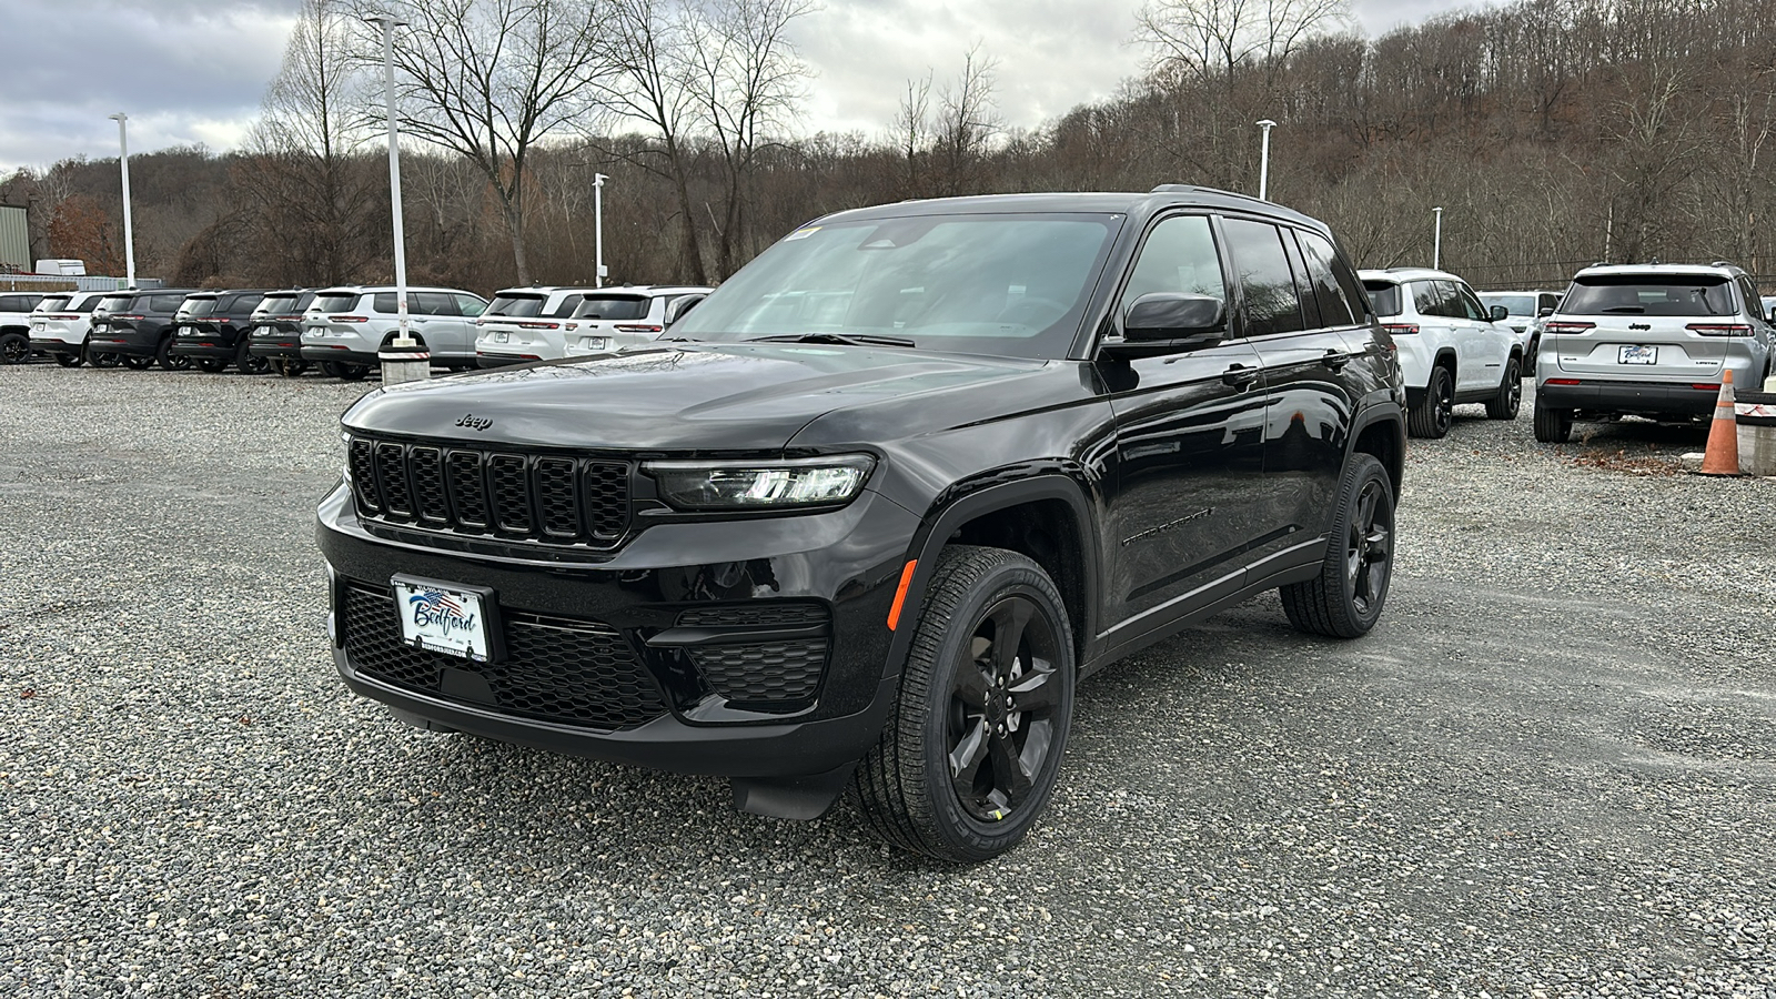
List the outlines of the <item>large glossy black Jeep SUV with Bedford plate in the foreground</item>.
{"type": "Polygon", "coordinates": [[[979,860],[1048,800],[1080,677],[1261,590],[1375,624],[1403,400],[1332,235],[1275,204],[842,212],[670,341],[348,409],[334,661],[423,727],[771,816],[849,786],[979,860]]]}

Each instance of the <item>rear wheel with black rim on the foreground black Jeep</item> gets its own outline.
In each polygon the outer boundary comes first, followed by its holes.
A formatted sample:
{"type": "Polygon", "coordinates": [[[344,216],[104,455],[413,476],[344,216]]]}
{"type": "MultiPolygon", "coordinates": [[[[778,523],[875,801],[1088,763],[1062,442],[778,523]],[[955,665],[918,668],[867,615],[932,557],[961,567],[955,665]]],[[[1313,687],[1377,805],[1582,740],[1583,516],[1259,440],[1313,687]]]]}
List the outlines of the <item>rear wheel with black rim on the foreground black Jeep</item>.
{"type": "Polygon", "coordinates": [[[1344,468],[1337,517],[1320,574],[1279,587],[1282,613],[1298,631],[1359,638],[1375,627],[1394,574],[1394,482],[1373,455],[1344,468]]]}

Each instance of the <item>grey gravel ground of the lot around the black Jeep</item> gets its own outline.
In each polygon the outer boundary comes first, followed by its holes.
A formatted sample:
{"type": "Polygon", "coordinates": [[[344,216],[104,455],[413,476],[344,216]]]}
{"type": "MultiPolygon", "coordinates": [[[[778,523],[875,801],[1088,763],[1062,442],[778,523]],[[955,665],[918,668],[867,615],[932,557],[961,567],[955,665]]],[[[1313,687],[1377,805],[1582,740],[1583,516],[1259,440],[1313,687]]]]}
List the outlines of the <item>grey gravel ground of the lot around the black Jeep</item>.
{"type": "Polygon", "coordinates": [[[1382,624],[1089,681],[1009,857],[416,732],[325,651],[364,386],[0,368],[4,995],[1776,995],[1776,480],[1414,443],[1382,624]]]}

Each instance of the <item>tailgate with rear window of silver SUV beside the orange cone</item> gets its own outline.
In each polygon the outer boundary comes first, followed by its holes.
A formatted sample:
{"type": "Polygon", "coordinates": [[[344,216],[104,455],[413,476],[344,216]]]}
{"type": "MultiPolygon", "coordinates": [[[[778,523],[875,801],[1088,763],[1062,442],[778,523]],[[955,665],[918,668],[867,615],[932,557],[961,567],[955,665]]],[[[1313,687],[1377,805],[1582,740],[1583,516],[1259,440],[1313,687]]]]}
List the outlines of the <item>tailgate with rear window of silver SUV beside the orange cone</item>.
{"type": "Polygon", "coordinates": [[[1677,384],[1717,382],[1733,327],[1744,325],[1732,281],[1716,274],[1579,277],[1558,322],[1561,372],[1677,384]]]}

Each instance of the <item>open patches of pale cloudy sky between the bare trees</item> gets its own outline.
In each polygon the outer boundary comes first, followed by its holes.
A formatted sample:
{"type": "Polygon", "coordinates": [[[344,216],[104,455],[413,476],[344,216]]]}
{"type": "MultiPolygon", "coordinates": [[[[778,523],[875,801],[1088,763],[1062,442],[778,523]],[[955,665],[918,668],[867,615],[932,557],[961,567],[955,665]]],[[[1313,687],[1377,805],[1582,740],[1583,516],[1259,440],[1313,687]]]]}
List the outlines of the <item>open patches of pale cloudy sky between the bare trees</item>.
{"type": "MultiPolygon", "coordinates": [[[[0,0],[0,171],[130,149],[240,144],[277,73],[300,0],[0,0]]],[[[1106,98],[1140,69],[1140,0],[824,0],[796,32],[815,69],[808,132],[881,135],[909,78],[941,85],[977,39],[998,60],[1009,124],[1037,126],[1106,98]]],[[[1378,36],[1463,0],[1355,0],[1378,36]]]]}

